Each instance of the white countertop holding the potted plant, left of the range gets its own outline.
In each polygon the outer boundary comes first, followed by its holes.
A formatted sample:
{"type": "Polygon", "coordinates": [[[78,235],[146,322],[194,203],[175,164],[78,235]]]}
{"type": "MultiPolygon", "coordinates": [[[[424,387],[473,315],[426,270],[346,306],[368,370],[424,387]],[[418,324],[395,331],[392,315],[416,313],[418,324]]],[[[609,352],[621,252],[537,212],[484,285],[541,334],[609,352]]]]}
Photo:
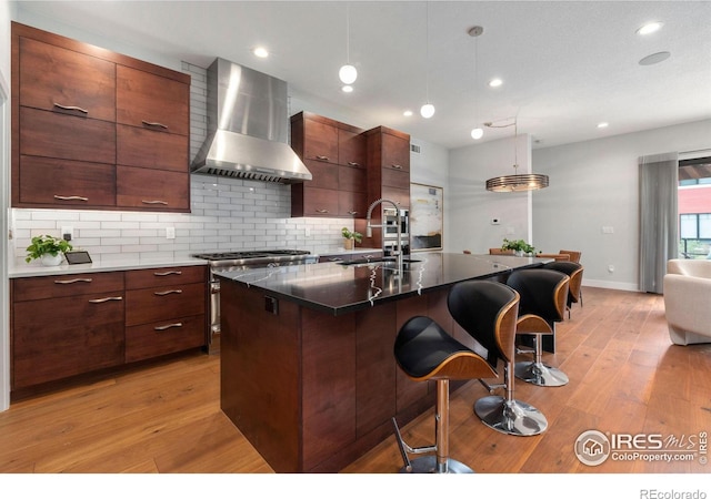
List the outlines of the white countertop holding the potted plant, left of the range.
{"type": "Polygon", "coordinates": [[[8,276],[16,277],[38,277],[46,275],[70,275],[86,274],[89,272],[113,272],[113,271],[133,271],[139,268],[157,268],[157,267],[184,267],[189,265],[207,265],[208,261],[194,258],[189,255],[146,258],[136,256],[126,259],[116,259],[111,262],[100,262],[90,264],[69,265],[66,262],[54,267],[46,267],[38,259],[26,263],[23,259],[10,262],[8,265],[8,276]]]}

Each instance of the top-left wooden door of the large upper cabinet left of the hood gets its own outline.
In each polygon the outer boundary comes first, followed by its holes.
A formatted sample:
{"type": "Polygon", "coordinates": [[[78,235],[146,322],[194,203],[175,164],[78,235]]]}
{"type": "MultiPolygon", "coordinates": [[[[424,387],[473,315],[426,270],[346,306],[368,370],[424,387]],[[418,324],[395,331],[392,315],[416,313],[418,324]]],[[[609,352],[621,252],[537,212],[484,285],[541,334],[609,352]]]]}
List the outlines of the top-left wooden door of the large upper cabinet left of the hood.
{"type": "Polygon", "coordinates": [[[116,64],[20,37],[20,105],[116,121],[116,64]]]}

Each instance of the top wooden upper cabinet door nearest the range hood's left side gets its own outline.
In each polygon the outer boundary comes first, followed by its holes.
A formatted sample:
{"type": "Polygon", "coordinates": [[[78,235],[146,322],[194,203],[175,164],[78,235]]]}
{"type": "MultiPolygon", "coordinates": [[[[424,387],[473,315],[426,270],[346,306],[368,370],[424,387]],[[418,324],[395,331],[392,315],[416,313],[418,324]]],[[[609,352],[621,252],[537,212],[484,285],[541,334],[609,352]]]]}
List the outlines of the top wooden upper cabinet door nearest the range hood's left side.
{"type": "Polygon", "coordinates": [[[190,85],[146,71],[117,67],[117,122],[188,135],[190,85]]]}

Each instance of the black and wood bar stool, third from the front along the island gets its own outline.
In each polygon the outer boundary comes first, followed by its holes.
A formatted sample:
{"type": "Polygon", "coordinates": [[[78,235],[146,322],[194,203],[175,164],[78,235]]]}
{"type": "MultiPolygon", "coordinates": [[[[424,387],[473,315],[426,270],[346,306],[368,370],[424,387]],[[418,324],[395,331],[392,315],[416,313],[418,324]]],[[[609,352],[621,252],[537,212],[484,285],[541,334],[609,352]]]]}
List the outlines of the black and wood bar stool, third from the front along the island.
{"type": "MultiPolygon", "coordinates": [[[[560,263],[560,262],[559,262],[560,263]]],[[[517,335],[533,336],[533,361],[515,363],[515,377],[538,386],[563,386],[562,370],[543,364],[541,337],[555,337],[555,323],[564,319],[570,277],[548,268],[513,272],[507,284],[521,295],[517,335]]]]}

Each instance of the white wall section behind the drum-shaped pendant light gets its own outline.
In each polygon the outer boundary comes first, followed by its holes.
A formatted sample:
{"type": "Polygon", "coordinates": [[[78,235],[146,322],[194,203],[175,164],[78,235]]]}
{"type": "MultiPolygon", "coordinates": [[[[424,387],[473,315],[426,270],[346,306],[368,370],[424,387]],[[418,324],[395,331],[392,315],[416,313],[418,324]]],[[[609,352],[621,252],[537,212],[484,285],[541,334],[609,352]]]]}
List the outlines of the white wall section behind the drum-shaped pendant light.
{"type": "MultiPolygon", "coordinates": [[[[488,253],[501,246],[503,238],[525,240],[531,235],[531,197],[539,193],[497,193],[487,191],[488,179],[518,172],[529,173],[531,138],[528,134],[451,150],[449,153],[449,204],[444,214],[449,230],[445,251],[488,253]],[[491,220],[498,218],[499,225],[491,220]]],[[[544,172],[535,172],[544,173],[544,172]]]]}

